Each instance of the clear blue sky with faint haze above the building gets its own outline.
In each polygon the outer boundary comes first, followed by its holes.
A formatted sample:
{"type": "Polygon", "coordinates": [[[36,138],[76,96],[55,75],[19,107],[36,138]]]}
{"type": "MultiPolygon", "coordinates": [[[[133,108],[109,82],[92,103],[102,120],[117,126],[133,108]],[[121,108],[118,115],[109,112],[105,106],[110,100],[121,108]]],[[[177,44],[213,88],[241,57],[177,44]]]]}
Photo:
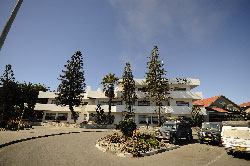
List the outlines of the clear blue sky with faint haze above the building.
{"type": "MultiPolygon", "coordinates": [[[[17,0],[0,0],[2,31],[17,0]]],[[[170,78],[197,78],[203,98],[250,102],[250,0],[24,0],[0,52],[0,75],[56,90],[67,60],[83,53],[92,90],[130,62],[145,78],[153,47],[170,78]]]]}

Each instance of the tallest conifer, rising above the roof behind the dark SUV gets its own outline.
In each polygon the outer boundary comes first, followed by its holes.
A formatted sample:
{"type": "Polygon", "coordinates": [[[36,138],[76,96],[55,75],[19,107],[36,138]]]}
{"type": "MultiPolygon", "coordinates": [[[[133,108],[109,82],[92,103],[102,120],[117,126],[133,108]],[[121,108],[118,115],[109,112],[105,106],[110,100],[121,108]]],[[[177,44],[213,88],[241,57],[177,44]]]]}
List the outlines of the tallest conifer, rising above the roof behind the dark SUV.
{"type": "Polygon", "coordinates": [[[149,62],[147,62],[148,72],[146,72],[146,90],[152,101],[156,102],[158,105],[158,125],[161,125],[161,106],[162,101],[168,98],[168,80],[164,78],[166,71],[163,68],[163,63],[158,60],[158,48],[154,46],[149,57],[149,62]]]}

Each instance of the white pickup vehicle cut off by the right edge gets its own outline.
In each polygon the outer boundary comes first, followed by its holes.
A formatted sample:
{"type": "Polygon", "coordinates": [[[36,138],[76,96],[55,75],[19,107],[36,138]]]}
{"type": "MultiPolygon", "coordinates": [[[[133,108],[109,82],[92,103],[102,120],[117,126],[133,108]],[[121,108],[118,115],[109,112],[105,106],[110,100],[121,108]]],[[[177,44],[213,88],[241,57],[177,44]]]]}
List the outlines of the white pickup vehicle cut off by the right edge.
{"type": "Polygon", "coordinates": [[[250,121],[223,121],[222,144],[228,154],[250,154],[250,121]]]}

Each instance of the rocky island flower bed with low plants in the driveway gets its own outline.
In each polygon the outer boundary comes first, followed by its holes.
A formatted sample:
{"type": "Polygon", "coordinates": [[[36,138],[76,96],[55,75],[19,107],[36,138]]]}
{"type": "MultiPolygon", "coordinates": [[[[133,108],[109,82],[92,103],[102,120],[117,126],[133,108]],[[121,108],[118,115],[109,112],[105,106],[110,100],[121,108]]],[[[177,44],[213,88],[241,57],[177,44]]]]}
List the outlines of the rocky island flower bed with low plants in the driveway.
{"type": "Polygon", "coordinates": [[[102,148],[102,151],[109,151],[118,156],[130,154],[130,156],[134,157],[140,157],[146,153],[154,154],[156,151],[173,147],[173,145],[159,142],[154,135],[144,133],[136,133],[132,137],[124,137],[114,133],[97,140],[97,146],[102,148]]]}

